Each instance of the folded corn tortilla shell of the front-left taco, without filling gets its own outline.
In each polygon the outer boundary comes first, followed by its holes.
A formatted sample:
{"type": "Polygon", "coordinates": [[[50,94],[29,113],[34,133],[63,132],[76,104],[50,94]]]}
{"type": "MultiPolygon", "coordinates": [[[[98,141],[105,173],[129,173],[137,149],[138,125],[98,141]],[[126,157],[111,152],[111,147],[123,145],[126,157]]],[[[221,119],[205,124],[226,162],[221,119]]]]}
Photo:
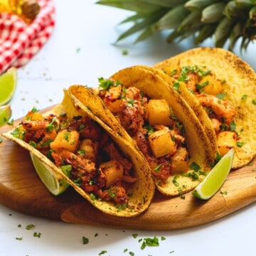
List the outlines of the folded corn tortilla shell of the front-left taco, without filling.
{"type": "Polygon", "coordinates": [[[26,142],[23,142],[23,140],[14,137],[11,134],[14,129],[2,135],[16,142],[24,149],[27,149],[32,154],[37,156],[38,159],[40,159],[44,164],[46,164],[46,166],[52,169],[55,174],[58,174],[62,178],[64,178],[65,181],[67,181],[71,186],[73,186],[73,188],[75,188],[75,191],[80,193],[80,195],[87,199],[87,201],[92,203],[93,206],[95,206],[99,210],[102,210],[102,212],[119,217],[132,217],[135,215],[139,215],[149,207],[151,200],[154,196],[154,181],[151,177],[151,170],[146,160],[144,159],[144,157],[141,156],[137,149],[135,149],[131,144],[122,139],[122,137],[120,137],[117,132],[108,127],[104,122],[101,122],[99,119],[95,118],[95,115],[92,113],[92,111],[90,111],[93,109],[93,106],[94,102],[92,100],[89,100],[89,102],[87,102],[87,107],[81,106],[80,108],[80,106],[75,105],[68,90],[64,90],[63,101],[59,105],[54,107],[53,110],[47,112],[45,115],[48,115],[50,113],[61,114],[63,112],[67,113],[68,117],[87,115],[91,119],[94,119],[96,122],[100,123],[100,125],[107,131],[107,133],[110,134],[114,142],[116,142],[122,152],[126,156],[128,156],[134,166],[134,176],[136,176],[137,181],[133,183],[132,186],[129,188],[129,191],[127,191],[129,195],[132,195],[129,196],[129,208],[118,210],[117,207],[114,206],[114,203],[92,200],[92,198],[90,197],[90,193],[83,191],[82,188],[75,185],[75,183],[70,178],[65,176],[65,174],[63,174],[63,172],[57,166],[55,166],[52,161],[50,161],[50,159],[41,154],[40,151],[33,148],[33,146],[30,146],[26,142]],[[131,207],[133,208],[132,210],[131,207]]]}

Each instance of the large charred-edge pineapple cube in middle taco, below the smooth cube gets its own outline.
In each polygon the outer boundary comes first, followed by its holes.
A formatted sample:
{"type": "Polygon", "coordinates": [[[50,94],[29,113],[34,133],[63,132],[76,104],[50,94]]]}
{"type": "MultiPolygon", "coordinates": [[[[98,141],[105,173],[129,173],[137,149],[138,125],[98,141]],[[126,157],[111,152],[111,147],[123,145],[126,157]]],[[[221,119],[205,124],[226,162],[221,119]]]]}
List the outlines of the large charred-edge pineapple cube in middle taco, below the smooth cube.
{"type": "Polygon", "coordinates": [[[161,129],[149,135],[149,144],[156,158],[173,154],[176,150],[175,142],[167,129],[161,129]]]}

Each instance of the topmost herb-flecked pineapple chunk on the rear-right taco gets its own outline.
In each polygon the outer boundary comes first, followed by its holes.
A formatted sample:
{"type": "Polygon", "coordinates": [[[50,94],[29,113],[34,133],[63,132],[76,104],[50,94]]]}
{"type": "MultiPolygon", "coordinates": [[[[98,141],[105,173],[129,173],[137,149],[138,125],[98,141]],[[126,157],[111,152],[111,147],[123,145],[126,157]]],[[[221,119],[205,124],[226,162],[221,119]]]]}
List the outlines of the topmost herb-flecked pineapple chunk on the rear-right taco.
{"type": "Polygon", "coordinates": [[[202,92],[210,95],[218,95],[223,92],[223,86],[221,85],[220,80],[213,78],[212,75],[206,75],[203,77],[199,82],[199,85],[203,86],[201,89],[202,92]]]}

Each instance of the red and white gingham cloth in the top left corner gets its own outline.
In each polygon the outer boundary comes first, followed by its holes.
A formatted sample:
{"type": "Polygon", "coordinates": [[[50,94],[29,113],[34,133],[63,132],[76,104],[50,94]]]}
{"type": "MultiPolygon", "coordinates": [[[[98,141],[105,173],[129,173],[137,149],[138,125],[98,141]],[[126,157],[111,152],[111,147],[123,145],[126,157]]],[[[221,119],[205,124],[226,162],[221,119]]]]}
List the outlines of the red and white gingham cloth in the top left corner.
{"type": "Polygon", "coordinates": [[[55,25],[53,0],[39,0],[41,9],[31,23],[16,15],[0,14],[0,74],[19,68],[46,43],[55,25]]]}

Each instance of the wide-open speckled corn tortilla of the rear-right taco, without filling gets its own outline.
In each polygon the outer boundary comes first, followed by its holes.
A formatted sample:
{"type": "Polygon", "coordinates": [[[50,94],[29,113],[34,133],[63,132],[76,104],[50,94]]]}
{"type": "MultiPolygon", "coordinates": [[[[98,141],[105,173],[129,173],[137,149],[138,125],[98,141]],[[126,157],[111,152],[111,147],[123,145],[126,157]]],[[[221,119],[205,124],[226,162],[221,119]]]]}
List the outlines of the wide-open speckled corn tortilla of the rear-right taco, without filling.
{"type": "MultiPolygon", "coordinates": [[[[254,124],[256,111],[256,74],[250,65],[238,58],[228,50],[221,48],[195,48],[171,57],[154,65],[155,68],[164,70],[168,66],[205,66],[211,70],[216,78],[225,80],[224,92],[230,105],[236,110],[235,124],[239,133],[240,141],[245,144],[242,147],[235,146],[233,169],[248,164],[256,154],[256,126],[254,124]],[[242,100],[242,96],[246,99],[242,100]]],[[[196,114],[202,115],[202,108],[196,108],[200,104],[196,97],[188,90],[182,97],[191,105],[196,114]]],[[[203,112],[205,112],[203,110],[203,112]]],[[[204,127],[210,121],[208,116],[199,118],[204,127]],[[208,119],[208,121],[207,121],[208,119]]]]}

